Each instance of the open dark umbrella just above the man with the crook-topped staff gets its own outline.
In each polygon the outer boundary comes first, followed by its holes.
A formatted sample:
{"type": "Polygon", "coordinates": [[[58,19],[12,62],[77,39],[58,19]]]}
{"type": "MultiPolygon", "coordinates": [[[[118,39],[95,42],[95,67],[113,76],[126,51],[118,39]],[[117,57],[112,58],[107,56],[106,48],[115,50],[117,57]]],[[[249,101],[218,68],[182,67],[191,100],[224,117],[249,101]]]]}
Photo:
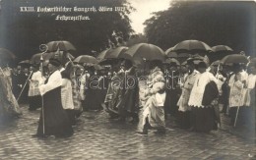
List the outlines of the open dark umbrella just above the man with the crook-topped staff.
{"type": "Polygon", "coordinates": [[[66,41],[66,40],[50,41],[46,45],[48,47],[48,51],[50,51],[50,52],[54,52],[57,50],[61,50],[61,51],[76,50],[74,45],[71,42],[66,41]]]}

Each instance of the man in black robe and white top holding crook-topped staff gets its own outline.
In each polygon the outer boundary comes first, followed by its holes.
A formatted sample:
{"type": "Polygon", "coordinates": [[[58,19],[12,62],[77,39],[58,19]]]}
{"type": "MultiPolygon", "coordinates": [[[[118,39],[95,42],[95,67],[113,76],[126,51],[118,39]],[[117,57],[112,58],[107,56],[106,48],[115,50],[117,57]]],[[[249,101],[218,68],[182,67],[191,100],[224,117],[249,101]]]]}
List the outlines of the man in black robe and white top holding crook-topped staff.
{"type": "Polygon", "coordinates": [[[39,125],[36,136],[55,135],[66,137],[73,134],[73,129],[61,103],[61,74],[58,70],[60,62],[50,59],[48,64],[49,78],[43,84],[39,84],[40,94],[43,99],[39,125]],[[44,115],[44,119],[43,116],[44,115]],[[44,132],[43,132],[44,120],[44,132]]]}

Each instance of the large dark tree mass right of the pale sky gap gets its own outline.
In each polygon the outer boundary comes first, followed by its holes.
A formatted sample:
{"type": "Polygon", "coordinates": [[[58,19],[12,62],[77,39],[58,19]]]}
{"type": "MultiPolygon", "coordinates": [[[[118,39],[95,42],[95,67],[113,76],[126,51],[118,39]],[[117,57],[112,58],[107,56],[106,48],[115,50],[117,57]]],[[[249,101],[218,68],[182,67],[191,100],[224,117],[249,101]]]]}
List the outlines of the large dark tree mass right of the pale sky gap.
{"type": "Polygon", "coordinates": [[[236,53],[255,53],[254,2],[173,1],[166,11],[145,22],[150,43],[162,49],[187,40],[202,40],[210,46],[228,45],[236,53]]]}

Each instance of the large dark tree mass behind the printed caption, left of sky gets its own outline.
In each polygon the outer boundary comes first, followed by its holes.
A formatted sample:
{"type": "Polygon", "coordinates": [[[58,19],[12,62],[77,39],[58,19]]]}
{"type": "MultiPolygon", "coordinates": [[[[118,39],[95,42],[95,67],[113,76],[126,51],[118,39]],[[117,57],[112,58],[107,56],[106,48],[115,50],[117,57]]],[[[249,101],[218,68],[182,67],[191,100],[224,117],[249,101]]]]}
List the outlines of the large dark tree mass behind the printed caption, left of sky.
{"type": "Polygon", "coordinates": [[[93,54],[108,47],[112,33],[127,40],[133,32],[128,15],[134,9],[126,0],[3,0],[0,11],[0,47],[12,50],[19,59],[29,59],[38,53],[38,46],[53,40],[68,40],[75,45],[75,56],[93,54]],[[28,2],[28,3],[27,3],[28,2]],[[20,7],[96,8],[96,12],[20,12],[20,7]],[[114,7],[125,7],[114,11],[114,7]],[[99,11],[99,7],[112,11],[99,11]],[[57,21],[57,16],[84,16],[88,21],[57,21]]]}

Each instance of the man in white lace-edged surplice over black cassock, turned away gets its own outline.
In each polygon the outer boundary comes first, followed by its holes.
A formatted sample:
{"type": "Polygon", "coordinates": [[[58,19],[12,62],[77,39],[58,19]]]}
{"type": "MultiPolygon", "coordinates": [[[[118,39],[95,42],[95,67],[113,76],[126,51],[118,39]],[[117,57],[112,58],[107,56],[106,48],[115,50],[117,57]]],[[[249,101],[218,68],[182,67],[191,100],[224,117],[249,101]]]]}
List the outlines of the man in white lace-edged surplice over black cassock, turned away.
{"type": "Polygon", "coordinates": [[[206,71],[205,62],[198,64],[199,74],[192,87],[188,105],[191,106],[191,131],[210,133],[217,130],[215,105],[219,95],[214,75],[206,71]]]}

